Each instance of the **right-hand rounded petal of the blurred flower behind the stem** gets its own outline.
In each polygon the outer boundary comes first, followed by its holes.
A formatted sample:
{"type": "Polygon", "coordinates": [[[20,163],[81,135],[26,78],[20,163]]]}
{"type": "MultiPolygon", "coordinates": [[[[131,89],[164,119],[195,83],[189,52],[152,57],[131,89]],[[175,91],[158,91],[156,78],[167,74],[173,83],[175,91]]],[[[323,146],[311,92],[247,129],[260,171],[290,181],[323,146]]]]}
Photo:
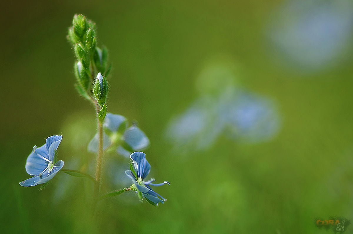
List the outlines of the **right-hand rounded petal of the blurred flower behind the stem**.
{"type": "Polygon", "coordinates": [[[136,126],[126,129],[123,139],[134,151],[142,150],[150,144],[150,140],[148,140],[145,133],[136,126]]]}

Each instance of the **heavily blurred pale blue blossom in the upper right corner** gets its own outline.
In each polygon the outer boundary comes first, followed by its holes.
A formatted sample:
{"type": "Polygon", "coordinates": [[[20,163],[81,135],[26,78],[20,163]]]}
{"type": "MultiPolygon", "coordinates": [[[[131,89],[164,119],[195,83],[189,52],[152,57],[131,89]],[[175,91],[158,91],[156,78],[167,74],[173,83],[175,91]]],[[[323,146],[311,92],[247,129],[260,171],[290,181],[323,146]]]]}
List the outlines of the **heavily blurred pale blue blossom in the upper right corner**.
{"type": "Polygon", "coordinates": [[[351,44],[351,1],[288,1],[279,9],[267,34],[280,52],[280,61],[304,72],[339,64],[351,44]]]}

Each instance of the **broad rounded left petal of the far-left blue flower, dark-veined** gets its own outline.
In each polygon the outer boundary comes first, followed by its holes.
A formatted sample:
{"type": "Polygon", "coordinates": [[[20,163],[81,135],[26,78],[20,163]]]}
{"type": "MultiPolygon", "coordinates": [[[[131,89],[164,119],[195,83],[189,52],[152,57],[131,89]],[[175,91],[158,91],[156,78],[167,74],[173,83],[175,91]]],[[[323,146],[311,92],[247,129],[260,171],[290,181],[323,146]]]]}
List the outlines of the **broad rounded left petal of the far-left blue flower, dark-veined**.
{"type": "Polygon", "coordinates": [[[26,172],[31,176],[36,176],[44,171],[48,166],[48,161],[44,160],[43,157],[49,160],[45,144],[36,148],[35,152],[30,153],[26,161],[26,172]]]}

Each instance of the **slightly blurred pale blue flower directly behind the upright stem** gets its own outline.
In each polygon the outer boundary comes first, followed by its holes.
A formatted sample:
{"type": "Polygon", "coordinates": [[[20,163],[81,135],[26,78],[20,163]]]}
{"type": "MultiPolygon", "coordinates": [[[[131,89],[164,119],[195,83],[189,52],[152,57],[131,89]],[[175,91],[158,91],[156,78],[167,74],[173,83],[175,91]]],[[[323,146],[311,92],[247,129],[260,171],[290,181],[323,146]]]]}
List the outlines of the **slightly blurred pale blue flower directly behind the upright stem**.
{"type": "MultiPolygon", "coordinates": [[[[108,147],[116,148],[116,153],[128,157],[132,152],[143,150],[150,144],[143,131],[135,125],[127,128],[124,116],[107,113],[104,119],[103,150],[108,147]]],[[[88,151],[96,153],[98,150],[98,134],[88,144],[88,151]]]]}

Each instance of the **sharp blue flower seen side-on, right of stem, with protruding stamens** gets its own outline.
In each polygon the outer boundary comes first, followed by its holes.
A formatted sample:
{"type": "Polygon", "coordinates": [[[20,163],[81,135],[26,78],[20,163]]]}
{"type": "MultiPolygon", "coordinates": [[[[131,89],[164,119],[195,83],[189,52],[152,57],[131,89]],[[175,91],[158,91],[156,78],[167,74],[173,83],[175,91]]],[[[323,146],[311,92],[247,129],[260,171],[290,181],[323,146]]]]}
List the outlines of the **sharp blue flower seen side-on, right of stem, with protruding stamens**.
{"type": "Polygon", "coordinates": [[[164,181],[160,184],[152,184],[152,182],[155,181],[154,178],[151,178],[148,181],[144,181],[151,170],[151,166],[146,160],[145,153],[134,152],[130,155],[130,158],[132,159],[137,175],[135,176],[136,173],[134,174],[131,170],[125,171],[125,174],[132,180],[137,190],[142,192],[143,196],[151,204],[158,205],[160,202],[163,204],[165,201],[167,201],[167,199],[153,191],[150,186],[162,186],[164,184],[170,185],[168,181],[164,181]]]}

